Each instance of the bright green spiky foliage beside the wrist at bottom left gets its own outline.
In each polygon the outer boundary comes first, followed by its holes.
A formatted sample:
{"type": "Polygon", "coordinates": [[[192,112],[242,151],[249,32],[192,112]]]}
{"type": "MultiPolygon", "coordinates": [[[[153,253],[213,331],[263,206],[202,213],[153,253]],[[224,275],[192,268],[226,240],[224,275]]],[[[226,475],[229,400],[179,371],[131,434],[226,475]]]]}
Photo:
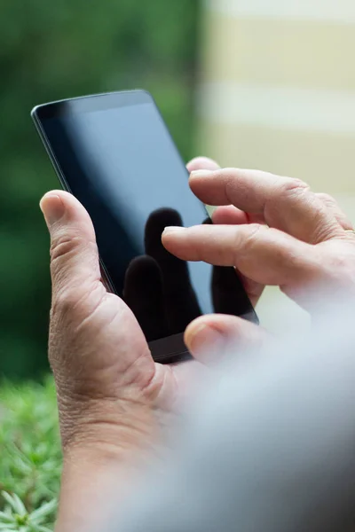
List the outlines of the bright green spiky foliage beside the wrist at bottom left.
{"type": "Polygon", "coordinates": [[[61,470],[51,379],[0,388],[0,449],[0,530],[51,529],[61,470]]]}

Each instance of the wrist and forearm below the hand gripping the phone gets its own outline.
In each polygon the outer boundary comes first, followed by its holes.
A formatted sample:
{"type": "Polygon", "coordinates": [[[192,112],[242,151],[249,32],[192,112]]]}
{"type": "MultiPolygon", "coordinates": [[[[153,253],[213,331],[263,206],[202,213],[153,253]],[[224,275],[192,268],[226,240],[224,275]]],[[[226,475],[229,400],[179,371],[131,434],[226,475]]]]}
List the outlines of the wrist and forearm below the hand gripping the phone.
{"type": "Polygon", "coordinates": [[[121,423],[102,415],[104,423],[77,427],[63,449],[56,532],[104,531],[106,522],[117,519],[130,486],[153,456],[157,429],[151,414],[135,407],[121,423]]]}

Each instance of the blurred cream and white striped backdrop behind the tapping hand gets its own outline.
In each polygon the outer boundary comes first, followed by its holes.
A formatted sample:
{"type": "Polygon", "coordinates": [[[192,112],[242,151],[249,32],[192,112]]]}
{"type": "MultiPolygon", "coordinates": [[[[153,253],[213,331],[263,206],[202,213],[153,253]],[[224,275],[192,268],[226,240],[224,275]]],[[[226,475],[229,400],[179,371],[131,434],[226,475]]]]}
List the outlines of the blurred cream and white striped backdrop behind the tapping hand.
{"type": "Polygon", "coordinates": [[[300,177],[355,222],[355,0],[205,0],[203,22],[200,152],[300,177]]]}

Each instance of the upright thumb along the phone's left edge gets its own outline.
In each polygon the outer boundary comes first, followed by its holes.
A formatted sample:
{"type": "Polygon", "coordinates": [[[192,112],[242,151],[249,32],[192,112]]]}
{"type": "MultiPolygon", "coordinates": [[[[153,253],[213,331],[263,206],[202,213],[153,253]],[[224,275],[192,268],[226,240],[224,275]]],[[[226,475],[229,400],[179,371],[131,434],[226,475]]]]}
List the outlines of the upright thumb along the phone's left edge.
{"type": "Polygon", "coordinates": [[[40,207],[51,235],[53,297],[74,291],[78,299],[88,285],[101,278],[91,218],[83,205],[64,191],[47,192],[40,207]]]}

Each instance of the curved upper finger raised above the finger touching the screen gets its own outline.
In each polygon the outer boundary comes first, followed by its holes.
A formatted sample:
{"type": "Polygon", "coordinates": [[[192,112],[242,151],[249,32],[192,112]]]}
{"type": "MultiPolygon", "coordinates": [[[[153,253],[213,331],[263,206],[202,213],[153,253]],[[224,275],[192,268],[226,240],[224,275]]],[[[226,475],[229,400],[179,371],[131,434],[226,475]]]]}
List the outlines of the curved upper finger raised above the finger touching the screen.
{"type": "Polygon", "coordinates": [[[256,170],[199,170],[190,176],[194,194],[212,205],[234,205],[263,215],[270,227],[317,244],[343,234],[324,202],[303,181],[256,170]]]}

